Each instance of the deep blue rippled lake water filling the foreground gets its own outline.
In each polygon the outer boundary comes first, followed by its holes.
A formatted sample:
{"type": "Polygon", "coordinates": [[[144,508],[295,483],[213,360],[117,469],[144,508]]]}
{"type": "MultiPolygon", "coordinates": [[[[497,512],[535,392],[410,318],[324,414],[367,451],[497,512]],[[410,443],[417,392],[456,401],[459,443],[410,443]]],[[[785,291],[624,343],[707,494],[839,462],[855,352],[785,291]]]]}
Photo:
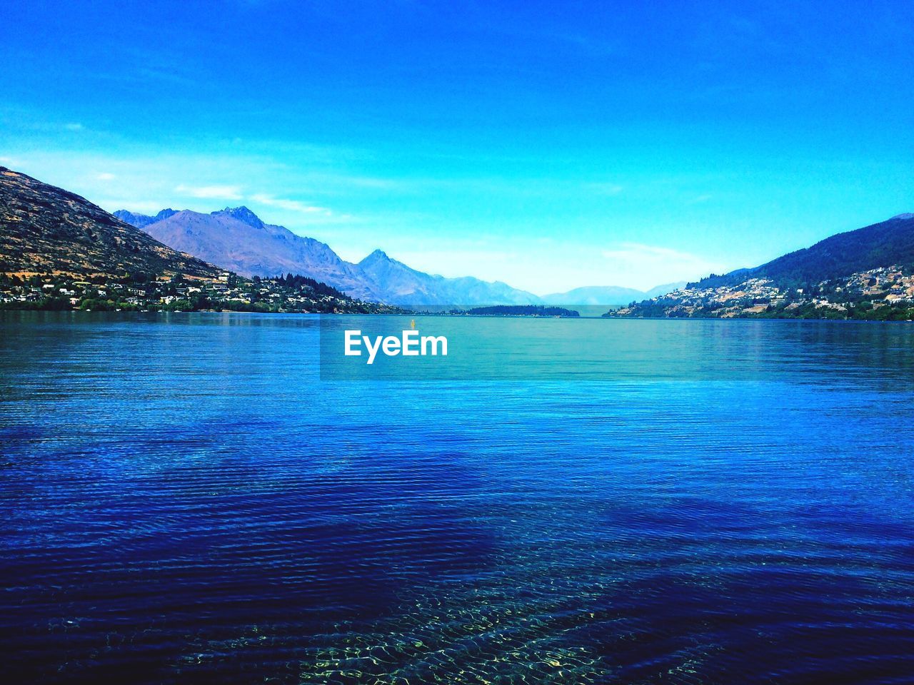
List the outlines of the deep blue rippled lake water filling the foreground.
{"type": "Polygon", "coordinates": [[[435,325],[0,315],[4,680],[914,681],[914,326],[435,325]]]}

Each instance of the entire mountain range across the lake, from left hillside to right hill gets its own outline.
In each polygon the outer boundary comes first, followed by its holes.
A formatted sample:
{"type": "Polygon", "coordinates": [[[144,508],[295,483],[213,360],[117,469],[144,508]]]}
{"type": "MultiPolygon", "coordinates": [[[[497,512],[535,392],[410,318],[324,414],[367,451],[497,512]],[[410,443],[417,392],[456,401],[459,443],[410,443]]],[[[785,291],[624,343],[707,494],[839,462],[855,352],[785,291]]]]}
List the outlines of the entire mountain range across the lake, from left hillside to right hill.
{"type": "Polygon", "coordinates": [[[243,206],[210,214],[165,209],[154,216],[123,210],[116,215],[0,167],[0,273],[218,280],[226,271],[265,277],[292,272],[390,304],[618,306],[640,299],[618,312],[634,316],[818,316],[823,308],[859,314],[914,304],[914,214],[685,287],[671,283],[647,292],[586,287],[543,297],[500,281],[424,273],[379,249],[348,262],[325,243],[266,224],[243,206]]]}

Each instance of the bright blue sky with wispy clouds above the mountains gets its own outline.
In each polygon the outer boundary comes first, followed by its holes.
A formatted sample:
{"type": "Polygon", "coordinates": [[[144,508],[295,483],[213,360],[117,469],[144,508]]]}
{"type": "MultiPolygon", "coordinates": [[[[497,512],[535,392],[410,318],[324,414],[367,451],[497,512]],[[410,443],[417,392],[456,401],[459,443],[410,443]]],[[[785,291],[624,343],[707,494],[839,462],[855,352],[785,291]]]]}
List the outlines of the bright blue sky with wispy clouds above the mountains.
{"type": "Polygon", "coordinates": [[[914,5],[30,2],[0,163],[537,293],[914,211],[914,5]]]}

